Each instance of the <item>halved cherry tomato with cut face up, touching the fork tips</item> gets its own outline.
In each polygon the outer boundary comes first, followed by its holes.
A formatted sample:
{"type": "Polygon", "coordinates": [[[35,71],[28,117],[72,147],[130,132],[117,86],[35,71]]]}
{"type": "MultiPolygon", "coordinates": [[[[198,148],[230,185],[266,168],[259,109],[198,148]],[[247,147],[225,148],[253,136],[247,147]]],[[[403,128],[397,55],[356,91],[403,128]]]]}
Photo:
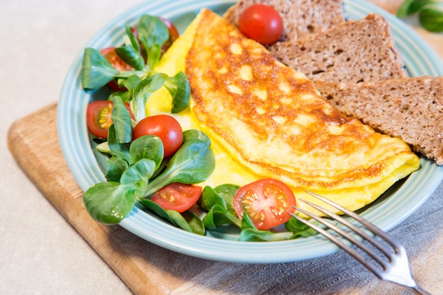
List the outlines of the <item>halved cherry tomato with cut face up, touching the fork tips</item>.
{"type": "Polygon", "coordinates": [[[271,229],[284,224],[294,213],[294,192],[280,180],[265,178],[240,187],[234,195],[238,218],[248,214],[257,229],[271,229]]]}

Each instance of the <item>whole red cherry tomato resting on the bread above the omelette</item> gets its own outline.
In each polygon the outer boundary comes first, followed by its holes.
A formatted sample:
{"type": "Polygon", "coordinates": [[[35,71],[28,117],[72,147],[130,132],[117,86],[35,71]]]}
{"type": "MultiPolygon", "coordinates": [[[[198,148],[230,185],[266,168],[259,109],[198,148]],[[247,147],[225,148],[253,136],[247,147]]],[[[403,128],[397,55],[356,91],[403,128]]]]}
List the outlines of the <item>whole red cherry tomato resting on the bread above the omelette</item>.
{"type": "Polygon", "coordinates": [[[241,33],[263,44],[270,45],[283,33],[283,21],[280,13],[265,4],[248,6],[238,18],[241,33]]]}

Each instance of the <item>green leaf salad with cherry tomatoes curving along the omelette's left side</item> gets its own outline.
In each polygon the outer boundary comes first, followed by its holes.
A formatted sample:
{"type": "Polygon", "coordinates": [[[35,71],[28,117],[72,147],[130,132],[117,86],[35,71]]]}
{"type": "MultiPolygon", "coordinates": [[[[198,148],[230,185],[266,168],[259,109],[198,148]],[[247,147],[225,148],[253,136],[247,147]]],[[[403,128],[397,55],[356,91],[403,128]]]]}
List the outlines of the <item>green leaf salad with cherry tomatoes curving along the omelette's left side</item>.
{"type": "MultiPolygon", "coordinates": [[[[162,122],[167,120],[156,122],[154,127],[144,124],[152,119],[146,117],[146,101],[161,87],[173,97],[171,113],[188,108],[190,86],[186,75],[154,71],[161,54],[178,37],[177,30],[170,21],[148,15],[139,18],[134,28],[126,25],[125,29],[122,47],[84,50],[81,82],[85,90],[113,89],[98,107],[93,108],[98,101],[88,105],[88,127],[98,144],[96,149],[108,156],[107,181],[84,193],[84,204],[93,219],[117,224],[137,206],[199,235],[226,226],[238,229],[240,241],[277,241],[315,234],[289,214],[279,219],[286,231],[271,231],[277,224],[265,227],[256,222],[271,214],[269,209],[264,215],[248,212],[248,206],[253,211],[254,193],[263,199],[263,187],[266,193],[292,198],[289,204],[295,204],[292,192],[280,182],[264,180],[245,187],[198,186],[215,169],[209,137],[197,129],[182,132],[180,127],[165,126],[162,122]],[[178,142],[177,148],[166,155],[173,142],[178,142]]],[[[292,206],[287,208],[291,209],[294,212],[292,206]]]]}

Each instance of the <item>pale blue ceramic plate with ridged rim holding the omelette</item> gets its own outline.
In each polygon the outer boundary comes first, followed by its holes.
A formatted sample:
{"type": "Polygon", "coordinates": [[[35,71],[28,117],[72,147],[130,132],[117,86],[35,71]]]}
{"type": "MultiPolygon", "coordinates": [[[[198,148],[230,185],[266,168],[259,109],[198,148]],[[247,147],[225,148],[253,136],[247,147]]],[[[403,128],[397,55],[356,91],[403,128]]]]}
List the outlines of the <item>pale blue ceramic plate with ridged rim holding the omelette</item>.
{"type": "MultiPolygon", "coordinates": [[[[147,13],[171,19],[180,33],[200,11],[206,7],[219,14],[234,4],[234,1],[216,0],[163,0],[139,4],[122,13],[108,23],[85,45],[101,49],[120,45],[126,23],[134,23],[140,15],[147,13]]],[[[391,24],[407,69],[411,76],[443,75],[443,65],[425,42],[402,21],[386,11],[364,1],[343,1],[348,18],[364,18],[368,13],[379,13],[391,24]]],[[[57,109],[59,141],[64,158],[71,173],[82,190],[94,183],[105,180],[96,155],[91,149],[90,137],[86,127],[86,105],[92,99],[91,93],[81,88],[80,69],[83,48],[71,65],[57,109]]],[[[433,161],[421,158],[420,170],[407,179],[397,183],[382,197],[362,211],[362,215],[381,227],[389,230],[412,214],[425,202],[443,179],[443,168],[433,161]]],[[[229,233],[209,233],[198,236],[177,229],[134,207],[120,225],[144,238],[146,241],[163,248],[210,260],[230,262],[290,262],[317,258],[334,253],[338,248],[322,236],[313,236],[292,241],[279,242],[238,242],[229,233]],[[217,237],[216,237],[217,236],[217,237]]]]}

